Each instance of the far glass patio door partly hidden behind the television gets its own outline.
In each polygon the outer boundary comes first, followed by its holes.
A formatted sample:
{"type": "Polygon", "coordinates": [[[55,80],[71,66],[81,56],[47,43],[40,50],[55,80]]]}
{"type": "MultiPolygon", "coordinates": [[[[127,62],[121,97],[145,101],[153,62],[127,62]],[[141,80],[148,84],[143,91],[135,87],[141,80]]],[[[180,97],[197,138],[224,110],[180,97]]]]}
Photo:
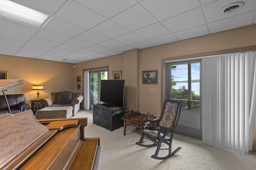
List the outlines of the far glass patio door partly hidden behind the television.
{"type": "Polygon", "coordinates": [[[108,70],[93,70],[90,74],[90,109],[100,103],[100,80],[108,80],[108,70]]]}

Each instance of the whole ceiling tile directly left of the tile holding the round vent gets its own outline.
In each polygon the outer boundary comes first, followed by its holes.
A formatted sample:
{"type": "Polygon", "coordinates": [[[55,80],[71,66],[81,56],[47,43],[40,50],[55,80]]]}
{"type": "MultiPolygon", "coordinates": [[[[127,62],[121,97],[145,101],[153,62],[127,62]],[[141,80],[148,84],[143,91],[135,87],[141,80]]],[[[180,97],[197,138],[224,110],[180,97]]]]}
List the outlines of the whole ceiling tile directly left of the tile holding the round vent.
{"type": "Polygon", "coordinates": [[[201,8],[161,21],[172,33],[206,24],[201,8]]]}

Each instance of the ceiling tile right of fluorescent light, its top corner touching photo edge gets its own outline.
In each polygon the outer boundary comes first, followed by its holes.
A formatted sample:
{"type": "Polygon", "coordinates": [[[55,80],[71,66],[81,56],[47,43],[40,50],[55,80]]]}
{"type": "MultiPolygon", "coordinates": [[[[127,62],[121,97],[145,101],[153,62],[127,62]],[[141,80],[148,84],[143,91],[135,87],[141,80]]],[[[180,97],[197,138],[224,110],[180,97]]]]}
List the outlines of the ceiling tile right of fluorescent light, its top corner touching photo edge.
{"type": "Polygon", "coordinates": [[[67,21],[74,25],[80,26],[84,29],[89,29],[106,18],[96,14],[95,12],[85,8],[84,6],[74,2],[68,1],[55,15],[63,21],[67,21]]]}

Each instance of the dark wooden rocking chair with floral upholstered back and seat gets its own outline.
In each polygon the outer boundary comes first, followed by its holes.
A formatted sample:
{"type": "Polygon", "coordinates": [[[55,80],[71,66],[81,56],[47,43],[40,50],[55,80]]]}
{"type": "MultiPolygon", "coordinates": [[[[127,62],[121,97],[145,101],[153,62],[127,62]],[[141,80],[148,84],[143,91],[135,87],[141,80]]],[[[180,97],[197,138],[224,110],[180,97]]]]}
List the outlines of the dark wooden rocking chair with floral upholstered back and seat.
{"type": "Polygon", "coordinates": [[[181,147],[178,147],[176,150],[172,152],[172,138],[173,138],[176,126],[178,124],[178,120],[180,118],[182,104],[183,104],[183,101],[178,102],[176,100],[165,99],[159,119],[155,121],[145,120],[142,123],[140,141],[136,142],[136,144],[142,147],[154,147],[157,145],[156,153],[152,155],[151,158],[154,158],[154,159],[170,158],[181,149],[181,147]],[[147,124],[147,127],[144,127],[144,124],[146,122],[149,122],[149,124],[147,124]],[[156,129],[150,130],[150,127],[156,127],[156,129]],[[170,137],[167,136],[168,133],[170,134],[170,137]],[[150,141],[153,142],[153,144],[144,145],[143,144],[144,138],[149,139],[150,141]],[[168,155],[164,157],[159,157],[158,152],[161,149],[162,143],[165,143],[166,145],[169,146],[168,148],[169,152],[168,152],[168,155]]]}

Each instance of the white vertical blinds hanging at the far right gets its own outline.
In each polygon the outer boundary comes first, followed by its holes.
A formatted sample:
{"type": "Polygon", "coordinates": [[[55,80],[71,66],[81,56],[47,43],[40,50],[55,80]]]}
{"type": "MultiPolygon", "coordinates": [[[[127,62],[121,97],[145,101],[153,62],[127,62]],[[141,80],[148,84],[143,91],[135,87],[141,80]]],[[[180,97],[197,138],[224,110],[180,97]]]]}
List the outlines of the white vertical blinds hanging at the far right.
{"type": "Polygon", "coordinates": [[[256,53],[202,59],[202,141],[248,153],[256,113],[256,53]]]}

